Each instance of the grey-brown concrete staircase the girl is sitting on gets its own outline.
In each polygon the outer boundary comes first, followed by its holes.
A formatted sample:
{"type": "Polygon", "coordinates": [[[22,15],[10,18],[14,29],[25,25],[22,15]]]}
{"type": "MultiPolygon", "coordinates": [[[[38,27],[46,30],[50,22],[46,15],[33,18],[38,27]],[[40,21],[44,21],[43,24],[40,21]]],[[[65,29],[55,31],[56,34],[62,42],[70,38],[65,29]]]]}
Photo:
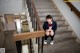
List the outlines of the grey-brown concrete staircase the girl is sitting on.
{"type": "Polygon", "coordinates": [[[61,15],[56,5],[51,0],[34,0],[41,26],[45,21],[46,15],[52,15],[53,20],[57,21],[57,31],[54,37],[54,45],[44,45],[43,53],[80,53],[80,45],[75,41],[76,36],[69,29],[69,24],[61,15]]]}

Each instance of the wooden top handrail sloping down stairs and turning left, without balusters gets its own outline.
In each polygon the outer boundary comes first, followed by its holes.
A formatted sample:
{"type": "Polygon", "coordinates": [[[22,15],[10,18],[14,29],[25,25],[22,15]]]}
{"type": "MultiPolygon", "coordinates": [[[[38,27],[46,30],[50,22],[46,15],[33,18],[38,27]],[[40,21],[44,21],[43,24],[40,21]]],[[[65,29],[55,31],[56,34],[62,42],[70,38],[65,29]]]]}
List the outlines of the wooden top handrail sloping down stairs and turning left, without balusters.
{"type": "Polygon", "coordinates": [[[37,10],[35,8],[33,0],[31,1],[31,4],[33,5],[33,9],[34,9],[35,16],[36,16],[35,18],[37,21],[39,31],[14,34],[15,41],[25,40],[25,39],[30,39],[30,38],[36,38],[36,37],[42,37],[45,34],[45,32],[42,30],[42,27],[40,26],[41,22],[40,22],[40,19],[39,19],[39,16],[38,16],[38,13],[37,13],[37,10]]]}

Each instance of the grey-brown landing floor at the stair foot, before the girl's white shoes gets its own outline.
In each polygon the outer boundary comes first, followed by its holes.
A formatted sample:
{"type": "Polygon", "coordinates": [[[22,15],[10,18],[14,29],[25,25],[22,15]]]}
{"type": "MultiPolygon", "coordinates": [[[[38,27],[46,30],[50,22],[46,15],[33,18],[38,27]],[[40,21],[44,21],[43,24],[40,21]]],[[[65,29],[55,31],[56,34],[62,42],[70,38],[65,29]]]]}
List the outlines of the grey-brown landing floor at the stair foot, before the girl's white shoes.
{"type": "Polygon", "coordinates": [[[54,45],[43,48],[43,53],[80,53],[80,45],[76,43],[75,39],[54,43],[54,45]]]}

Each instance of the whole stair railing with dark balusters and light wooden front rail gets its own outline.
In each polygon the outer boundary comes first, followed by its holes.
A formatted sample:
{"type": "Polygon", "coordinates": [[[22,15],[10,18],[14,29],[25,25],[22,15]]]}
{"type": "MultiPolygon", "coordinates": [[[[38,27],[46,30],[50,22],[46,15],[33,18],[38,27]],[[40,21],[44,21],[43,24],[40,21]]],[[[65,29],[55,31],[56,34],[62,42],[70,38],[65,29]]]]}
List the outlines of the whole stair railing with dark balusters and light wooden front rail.
{"type": "Polygon", "coordinates": [[[42,30],[42,27],[40,26],[41,22],[40,22],[37,10],[34,5],[34,0],[26,0],[26,3],[28,5],[28,11],[29,11],[29,14],[31,17],[33,28],[35,29],[34,25],[36,25],[36,30],[34,30],[34,32],[14,34],[14,39],[15,39],[15,41],[29,39],[30,53],[33,53],[31,39],[36,38],[37,44],[38,44],[38,53],[40,53],[40,52],[43,53],[43,37],[44,37],[45,32],[42,30]],[[40,39],[42,39],[42,44],[41,44],[42,47],[40,47],[40,39]],[[40,50],[40,48],[41,48],[41,50],[40,50]]]}

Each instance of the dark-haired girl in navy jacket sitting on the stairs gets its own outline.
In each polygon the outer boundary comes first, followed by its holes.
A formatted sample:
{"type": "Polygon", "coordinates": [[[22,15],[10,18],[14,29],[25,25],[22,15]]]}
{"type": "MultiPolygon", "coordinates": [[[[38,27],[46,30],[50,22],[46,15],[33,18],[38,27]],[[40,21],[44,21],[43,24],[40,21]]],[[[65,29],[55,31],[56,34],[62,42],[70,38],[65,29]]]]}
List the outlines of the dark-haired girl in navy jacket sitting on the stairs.
{"type": "Polygon", "coordinates": [[[46,21],[43,24],[43,29],[46,32],[44,44],[47,44],[47,38],[50,36],[51,37],[50,44],[53,45],[54,43],[53,39],[54,39],[55,31],[57,29],[57,23],[53,21],[51,15],[46,16],[46,21]]]}

